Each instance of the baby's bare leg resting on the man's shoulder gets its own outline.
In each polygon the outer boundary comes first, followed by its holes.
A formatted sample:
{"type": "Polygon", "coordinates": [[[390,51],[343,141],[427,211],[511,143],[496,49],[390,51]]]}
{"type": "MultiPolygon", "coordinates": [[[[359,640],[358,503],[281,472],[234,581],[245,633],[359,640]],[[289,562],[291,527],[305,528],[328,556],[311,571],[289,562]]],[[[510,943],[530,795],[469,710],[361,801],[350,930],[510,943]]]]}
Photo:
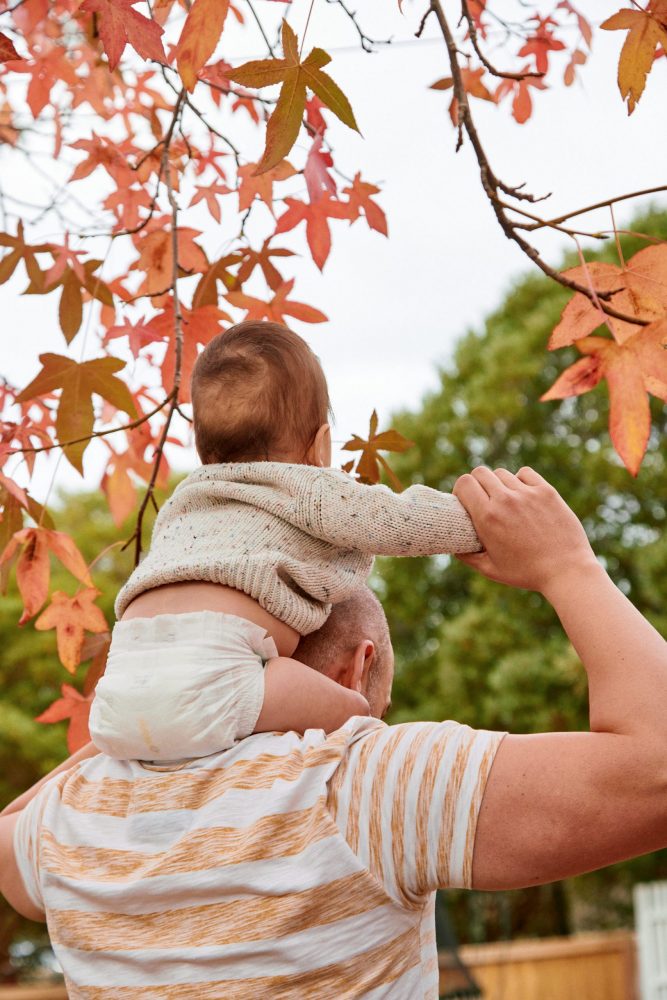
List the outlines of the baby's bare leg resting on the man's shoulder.
{"type": "Polygon", "coordinates": [[[264,704],[256,733],[298,733],[324,729],[332,733],[353,715],[369,715],[368,702],[359,691],[337,684],[298,660],[278,656],[264,671],[264,704]]]}

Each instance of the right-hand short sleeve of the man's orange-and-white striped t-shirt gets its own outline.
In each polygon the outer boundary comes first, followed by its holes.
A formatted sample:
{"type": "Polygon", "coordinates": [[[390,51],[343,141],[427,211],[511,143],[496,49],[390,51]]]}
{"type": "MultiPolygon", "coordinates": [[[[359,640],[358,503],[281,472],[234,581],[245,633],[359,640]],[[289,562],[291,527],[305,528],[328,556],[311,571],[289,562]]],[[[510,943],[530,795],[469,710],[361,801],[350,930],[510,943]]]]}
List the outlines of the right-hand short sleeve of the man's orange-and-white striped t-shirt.
{"type": "Polygon", "coordinates": [[[382,726],[351,748],[330,808],[350,847],[402,905],[471,888],[477,818],[505,733],[456,722],[382,726]]]}

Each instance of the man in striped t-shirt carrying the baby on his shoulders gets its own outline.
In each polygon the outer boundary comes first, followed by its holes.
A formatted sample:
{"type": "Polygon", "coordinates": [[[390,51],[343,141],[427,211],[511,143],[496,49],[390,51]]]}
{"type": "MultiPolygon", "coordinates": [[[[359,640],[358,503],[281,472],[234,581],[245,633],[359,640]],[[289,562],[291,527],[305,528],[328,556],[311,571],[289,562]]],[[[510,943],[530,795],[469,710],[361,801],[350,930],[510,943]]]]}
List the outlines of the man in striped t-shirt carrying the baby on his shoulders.
{"type": "MultiPolygon", "coordinates": [[[[434,889],[533,885],[667,845],[667,644],[537,473],[476,469],[455,492],[485,549],[464,561],[558,612],[591,732],[354,719],[178,769],[77,765],[0,819],[0,888],[46,912],[71,997],[435,997],[434,889]]],[[[300,653],[379,715],[391,654],[370,600],[363,631],[341,606],[300,653]]]]}

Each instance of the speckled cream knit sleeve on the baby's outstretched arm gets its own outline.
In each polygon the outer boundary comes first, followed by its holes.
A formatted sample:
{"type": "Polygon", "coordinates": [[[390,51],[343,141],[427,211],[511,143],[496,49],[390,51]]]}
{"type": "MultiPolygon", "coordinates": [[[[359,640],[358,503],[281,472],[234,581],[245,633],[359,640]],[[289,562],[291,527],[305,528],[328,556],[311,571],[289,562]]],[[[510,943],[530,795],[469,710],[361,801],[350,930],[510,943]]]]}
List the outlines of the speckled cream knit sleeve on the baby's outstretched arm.
{"type": "Polygon", "coordinates": [[[314,533],[369,555],[427,556],[479,552],[470,516],[451,493],[411,486],[394,493],[327,469],[313,485],[314,533]]]}

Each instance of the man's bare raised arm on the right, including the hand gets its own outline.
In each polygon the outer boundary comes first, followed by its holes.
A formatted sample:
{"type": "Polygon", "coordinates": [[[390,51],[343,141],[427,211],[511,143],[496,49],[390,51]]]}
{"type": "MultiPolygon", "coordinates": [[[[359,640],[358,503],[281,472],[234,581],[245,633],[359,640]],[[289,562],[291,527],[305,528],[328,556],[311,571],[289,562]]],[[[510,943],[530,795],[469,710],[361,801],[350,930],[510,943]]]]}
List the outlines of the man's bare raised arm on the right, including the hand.
{"type": "Polygon", "coordinates": [[[590,699],[591,732],[510,735],[498,749],[473,886],[550,882],[667,846],[667,643],[532,469],[475,469],[454,493],[485,548],[459,558],[546,597],[586,668],[590,699]]]}

